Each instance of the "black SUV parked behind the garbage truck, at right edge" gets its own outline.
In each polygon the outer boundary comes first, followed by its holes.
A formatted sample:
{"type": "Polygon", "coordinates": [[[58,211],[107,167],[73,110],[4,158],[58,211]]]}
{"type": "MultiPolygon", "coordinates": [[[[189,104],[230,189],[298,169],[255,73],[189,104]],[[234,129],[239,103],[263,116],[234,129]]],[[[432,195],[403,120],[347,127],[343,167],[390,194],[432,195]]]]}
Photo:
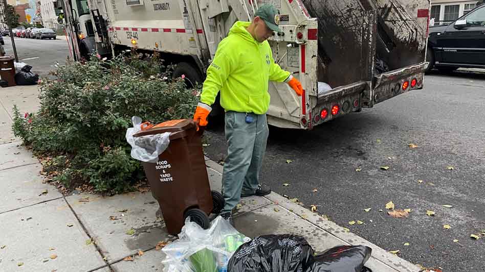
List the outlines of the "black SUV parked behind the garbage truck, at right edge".
{"type": "Polygon", "coordinates": [[[428,71],[485,68],[485,5],[450,24],[430,27],[426,56],[428,71]]]}

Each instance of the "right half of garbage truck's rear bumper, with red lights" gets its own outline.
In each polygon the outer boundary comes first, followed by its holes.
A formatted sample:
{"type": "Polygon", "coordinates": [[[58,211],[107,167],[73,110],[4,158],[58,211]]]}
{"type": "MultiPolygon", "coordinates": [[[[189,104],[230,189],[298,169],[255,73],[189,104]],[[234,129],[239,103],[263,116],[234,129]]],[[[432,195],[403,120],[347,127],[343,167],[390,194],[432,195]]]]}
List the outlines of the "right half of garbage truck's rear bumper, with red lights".
{"type": "Polygon", "coordinates": [[[427,67],[428,62],[422,62],[375,76],[372,83],[372,90],[370,91],[372,103],[364,104],[363,106],[371,108],[377,103],[381,103],[402,93],[422,89],[424,71],[427,67]]]}

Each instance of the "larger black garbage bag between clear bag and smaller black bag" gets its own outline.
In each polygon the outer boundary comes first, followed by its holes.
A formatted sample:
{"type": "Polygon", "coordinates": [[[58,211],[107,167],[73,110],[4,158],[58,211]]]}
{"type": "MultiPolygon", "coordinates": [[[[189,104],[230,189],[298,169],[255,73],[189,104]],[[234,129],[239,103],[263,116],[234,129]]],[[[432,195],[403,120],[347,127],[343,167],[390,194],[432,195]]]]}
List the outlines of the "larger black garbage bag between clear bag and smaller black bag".
{"type": "Polygon", "coordinates": [[[262,235],[241,245],[228,264],[231,272],[303,272],[314,251],[298,235],[262,235]]]}

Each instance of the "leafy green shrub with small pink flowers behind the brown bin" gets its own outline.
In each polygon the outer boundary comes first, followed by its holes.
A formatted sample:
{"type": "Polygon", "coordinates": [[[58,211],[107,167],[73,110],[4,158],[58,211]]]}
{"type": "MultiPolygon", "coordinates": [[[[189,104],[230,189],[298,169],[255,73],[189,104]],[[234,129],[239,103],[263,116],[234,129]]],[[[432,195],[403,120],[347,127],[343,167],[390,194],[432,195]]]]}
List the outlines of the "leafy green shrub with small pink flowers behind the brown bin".
{"type": "Polygon", "coordinates": [[[45,169],[67,187],[90,183],[99,192],[118,193],[143,179],[130,157],[125,133],[131,117],[158,123],[192,117],[199,89],[172,81],[156,56],[113,60],[93,56],[68,63],[40,83],[40,109],[22,114],[14,107],[13,132],[38,155],[45,169]]]}

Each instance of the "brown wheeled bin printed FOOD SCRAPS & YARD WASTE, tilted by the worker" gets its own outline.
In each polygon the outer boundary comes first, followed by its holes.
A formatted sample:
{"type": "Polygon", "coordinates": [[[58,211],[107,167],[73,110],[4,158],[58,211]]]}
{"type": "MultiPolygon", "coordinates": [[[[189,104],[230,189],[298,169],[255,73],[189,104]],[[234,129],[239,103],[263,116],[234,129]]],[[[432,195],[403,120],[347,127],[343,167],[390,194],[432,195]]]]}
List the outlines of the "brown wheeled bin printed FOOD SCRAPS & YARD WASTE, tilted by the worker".
{"type": "Polygon", "coordinates": [[[202,129],[192,119],[170,120],[158,125],[142,124],[134,137],[170,132],[170,144],[158,162],[142,162],[153,197],[158,201],[167,230],[177,235],[185,218],[207,229],[208,215],[224,208],[221,193],[211,191],[202,151],[202,129]]]}

